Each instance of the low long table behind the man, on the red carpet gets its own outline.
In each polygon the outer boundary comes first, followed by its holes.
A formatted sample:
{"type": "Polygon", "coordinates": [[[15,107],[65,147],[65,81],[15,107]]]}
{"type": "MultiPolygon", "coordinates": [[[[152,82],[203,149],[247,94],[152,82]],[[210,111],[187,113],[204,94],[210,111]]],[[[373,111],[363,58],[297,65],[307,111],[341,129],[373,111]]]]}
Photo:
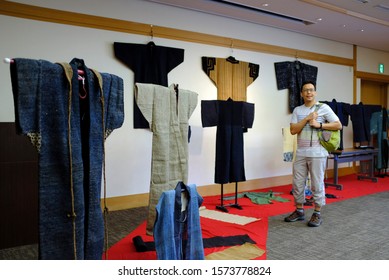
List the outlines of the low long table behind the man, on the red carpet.
{"type": "Polygon", "coordinates": [[[369,179],[377,182],[378,179],[374,177],[374,157],[378,154],[378,149],[344,149],[341,152],[333,152],[328,156],[329,160],[334,161],[334,181],[333,183],[326,182],[327,186],[334,186],[338,190],[342,190],[343,186],[338,182],[338,164],[344,162],[354,161],[370,161],[369,174],[358,174],[358,180],[369,179]]]}

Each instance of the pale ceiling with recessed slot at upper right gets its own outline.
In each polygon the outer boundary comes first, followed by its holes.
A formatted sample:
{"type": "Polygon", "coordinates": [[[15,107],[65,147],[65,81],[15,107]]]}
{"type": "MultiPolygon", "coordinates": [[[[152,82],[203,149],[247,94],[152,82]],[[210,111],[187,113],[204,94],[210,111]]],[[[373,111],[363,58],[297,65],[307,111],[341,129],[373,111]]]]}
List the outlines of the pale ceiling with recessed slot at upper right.
{"type": "Polygon", "coordinates": [[[389,0],[149,0],[389,52],[389,0]]]}

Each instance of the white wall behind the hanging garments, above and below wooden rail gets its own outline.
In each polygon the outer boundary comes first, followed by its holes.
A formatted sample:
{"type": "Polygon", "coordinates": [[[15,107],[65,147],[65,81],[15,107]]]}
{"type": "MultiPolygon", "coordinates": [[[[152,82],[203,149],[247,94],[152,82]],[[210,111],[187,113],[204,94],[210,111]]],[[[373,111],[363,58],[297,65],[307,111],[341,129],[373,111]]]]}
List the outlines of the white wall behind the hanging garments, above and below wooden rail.
{"type": "MultiPolygon", "coordinates": [[[[211,15],[182,11],[148,1],[19,1],[80,13],[116,17],[219,36],[231,36],[266,44],[352,57],[352,46],[291,33],[284,30],[238,22],[211,15]],[[93,4],[92,4],[93,3],[93,4]],[[161,17],[162,15],[162,17],[161,17]],[[253,36],[254,34],[254,36],[253,36]]],[[[106,142],[108,197],[147,193],[150,180],[151,132],[132,128],[133,73],[113,55],[113,42],[147,43],[148,36],[124,34],[0,16],[0,57],[45,59],[51,62],[83,58],[88,67],[123,78],[125,84],[125,122],[106,142]]],[[[200,101],[216,99],[216,88],[201,69],[201,56],[227,57],[230,48],[221,48],[154,37],[157,45],[185,49],[184,62],[169,74],[169,83],[199,94],[199,105],[190,124],[189,183],[213,184],[216,128],[202,128],[200,101]]],[[[294,58],[234,50],[243,61],[260,65],[258,79],[249,86],[248,102],[255,103],[254,126],[245,134],[247,179],[291,174],[291,164],[282,160],[281,128],[289,126],[288,92],[278,91],[274,62],[294,58]]],[[[352,103],[353,69],[341,65],[305,61],[318,73],[318,99],[352,103]]],[[[14,121],[9,66],[0,67],[0,122],[14,121]]],[[[352,145],[351,125],[345,128],[346,147],[352,145]]]]}

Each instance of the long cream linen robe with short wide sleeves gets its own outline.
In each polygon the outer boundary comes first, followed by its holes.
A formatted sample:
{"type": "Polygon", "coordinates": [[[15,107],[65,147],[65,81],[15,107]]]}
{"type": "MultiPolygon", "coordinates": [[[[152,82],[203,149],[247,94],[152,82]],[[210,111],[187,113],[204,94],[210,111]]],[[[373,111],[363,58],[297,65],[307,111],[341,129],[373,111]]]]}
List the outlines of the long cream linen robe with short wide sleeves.
{"type": "Polygon", "coordinates": [[[153,132],[147,234],[152,235],[155,205],[161,194],[188,179],[189,118],[197,93],[153,84],[135,84],[135,98],[153,132]]]}

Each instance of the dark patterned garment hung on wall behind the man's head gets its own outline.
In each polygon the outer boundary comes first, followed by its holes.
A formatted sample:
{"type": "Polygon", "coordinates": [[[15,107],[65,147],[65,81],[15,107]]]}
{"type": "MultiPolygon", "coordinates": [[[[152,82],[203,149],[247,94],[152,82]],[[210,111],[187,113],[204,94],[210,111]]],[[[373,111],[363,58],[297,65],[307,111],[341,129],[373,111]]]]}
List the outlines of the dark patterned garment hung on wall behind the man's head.
{"type": "Polygon", "coordinates": [[[289,89],[289,111],[304,102],[300,96],[301,85],[304,81],[316,84],[318,68],[316,66],[296,61],[275,62],[274,68],[277,79],[277,89],[289,89]]]}

